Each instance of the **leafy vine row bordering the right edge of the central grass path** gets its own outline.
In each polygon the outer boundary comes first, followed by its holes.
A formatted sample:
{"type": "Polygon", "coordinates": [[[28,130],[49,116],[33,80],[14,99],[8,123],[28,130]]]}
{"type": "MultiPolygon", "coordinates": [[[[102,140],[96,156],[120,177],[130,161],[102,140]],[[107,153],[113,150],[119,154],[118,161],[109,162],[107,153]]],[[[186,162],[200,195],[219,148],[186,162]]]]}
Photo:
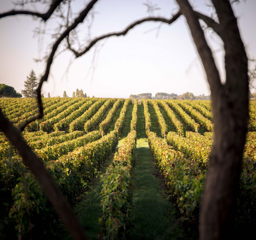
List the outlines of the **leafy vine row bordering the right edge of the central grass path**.
{"type": "Polygon", "coordinates": [[[182,219],[197,221],[206,170],[200,169],[195,160],[185,158],[184,154],[168,146],[156,133],[149,132],[148,140],[167,183],[168,194],[182,214],[182,219]]]}

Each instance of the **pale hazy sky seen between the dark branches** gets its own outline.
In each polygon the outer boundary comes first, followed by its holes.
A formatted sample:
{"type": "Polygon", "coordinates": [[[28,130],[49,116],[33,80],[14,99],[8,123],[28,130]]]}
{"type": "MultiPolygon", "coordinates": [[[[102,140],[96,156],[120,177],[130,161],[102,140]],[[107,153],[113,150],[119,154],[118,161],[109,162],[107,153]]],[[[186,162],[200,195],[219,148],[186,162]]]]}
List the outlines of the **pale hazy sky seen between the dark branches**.
{"type": "MultiPolygon", "coordinates": [[[[177,11],[173,0],[151,1],[160,7],[160,10],[155,11],[155,16],[169,18],[177,11]]],[[[123,30],[134,20],[149,16],[143,2],[147,0],[99,0],[94,7],[91,38],[123,30]]],[[[206,5],[207,0],[190,2],[195,9],[211,14],[211,8],[206,5]]],[[[74,3],[74,12],[84,6],[83,0],[74,3]]],[[[241,1],[240,4],[234,4],[233,8],[247,53],[256,57],[256,0],[241,1]]],[[[10,0],[0,0],[1,12],[10,9],[10,0]]],[[[34,36],[37,27],[52,32],[55,26],[53,22],[44,26],[30,16],[0,19],[0,83],[11,85],[18,92],[24,88],[24,81],[31,69],[38,78],[44,73],[44,62],[36,63],[34,59],[43,57],[52,39],[49,34],[34,36]]],[[[79,34],[81,41],[84,40],[88,36],[88,27],[80,26],[79,34]]],[[[206,35],[221,75],[224,76],[222,42],[210,30],[206,35]]],[[[72,96],[76,88],[83,89],[90,97],[128,98],[130,94],[145,92],[153,96],[157,92],[210,93],[184,17],[170,26],[144,23],[124,37],[111,37],[99,42],[97,48],[77,59],[70,52],[60,54],[54,60],[48,82],[43,85],[44,96],[50,92],[52,97],[62,97],[64,90],[68,96],[72,96]]]]}

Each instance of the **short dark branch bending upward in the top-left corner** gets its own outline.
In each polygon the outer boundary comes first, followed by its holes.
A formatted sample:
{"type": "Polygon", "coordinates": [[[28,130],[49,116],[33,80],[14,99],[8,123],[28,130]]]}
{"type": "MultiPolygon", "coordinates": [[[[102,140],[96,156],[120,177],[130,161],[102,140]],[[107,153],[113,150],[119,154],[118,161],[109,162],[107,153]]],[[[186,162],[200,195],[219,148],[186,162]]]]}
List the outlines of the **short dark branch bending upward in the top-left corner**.
{"type": "Polygon", "coordinates": [[[0,18],[14,16],[14,15],[31,15],[31,16],[39,17],[46,22],[51,17],[51,15],[56,10],[56,8],[61,4],[62,1],[63,0],[53,1],[46,13],[32,12],[32,11],[26,11],[26,10],[11,10],[8,12],[1,13],[0,18]]]}

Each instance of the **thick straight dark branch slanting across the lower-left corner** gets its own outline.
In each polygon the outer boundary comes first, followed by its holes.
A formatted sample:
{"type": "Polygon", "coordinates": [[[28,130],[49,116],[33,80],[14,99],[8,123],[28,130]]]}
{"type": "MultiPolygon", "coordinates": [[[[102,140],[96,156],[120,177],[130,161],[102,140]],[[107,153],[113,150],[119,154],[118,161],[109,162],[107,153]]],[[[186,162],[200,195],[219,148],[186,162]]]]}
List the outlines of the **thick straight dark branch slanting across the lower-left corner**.
{"type": "Polygon", "coordinates": [[[23,159],[23,163],[30,168],[39,184],[43,188],[45,195],[52,203],[56,212],[64,222],[65,227],[75,240],[86,240],[83,229],[72,212],[65,197],[57,187],[54,179],[45,169],[43,163],[32,152],[27,142],[23,139],[20,132],[10,123],[10,121],[2,114],[0,109],[0,129],[9,138],[10,142],[15,146],[23,159]]]}

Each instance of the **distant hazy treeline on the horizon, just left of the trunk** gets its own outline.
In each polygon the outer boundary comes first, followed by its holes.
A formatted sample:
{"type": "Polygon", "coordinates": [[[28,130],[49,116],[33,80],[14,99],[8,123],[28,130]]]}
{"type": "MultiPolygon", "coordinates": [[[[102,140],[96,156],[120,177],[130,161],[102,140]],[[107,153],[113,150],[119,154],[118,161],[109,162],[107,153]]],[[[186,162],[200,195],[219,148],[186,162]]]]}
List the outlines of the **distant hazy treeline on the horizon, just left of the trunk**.
{"type": "Polygon", "coordinates": [[[151,93],[140,93],[137,95],[131,94],[129,96],[131,99],[137,98],[140,99],[181,99],[181,100],[211,100],[211,96],[205,96],[204,94],[199,96],[194,96],[192,92],[186,92],[182,95],[178,95],[176,93],[165,93],[165,92],[158,92],[156,93],[155,97],[152,96],[151,93]]]}

